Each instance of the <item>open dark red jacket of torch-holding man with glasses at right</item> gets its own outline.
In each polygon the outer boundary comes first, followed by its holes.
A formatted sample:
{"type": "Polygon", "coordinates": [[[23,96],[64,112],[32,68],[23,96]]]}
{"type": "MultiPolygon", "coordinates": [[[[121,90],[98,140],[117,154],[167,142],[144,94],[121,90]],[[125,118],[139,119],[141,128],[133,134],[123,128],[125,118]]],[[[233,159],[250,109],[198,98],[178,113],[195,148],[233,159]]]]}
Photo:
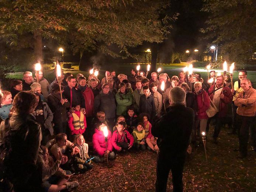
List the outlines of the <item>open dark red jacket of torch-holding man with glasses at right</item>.
{"type": "MultiPolygon", "coordinates": [[[[208,90],[208,95],[210,96],[210,99],[212,100],[214,95],[214,89],[215,89],[216,83],[211,85],[211,87],[208,90]]],[[[224,95],[224,98],[219,100],[219,114],[218,117],[225,117],[226,113],[228,111],[228,104],[233,100],[233,94],[230,91],[229,87],[224,86],[222,93],[224,95]]]]}

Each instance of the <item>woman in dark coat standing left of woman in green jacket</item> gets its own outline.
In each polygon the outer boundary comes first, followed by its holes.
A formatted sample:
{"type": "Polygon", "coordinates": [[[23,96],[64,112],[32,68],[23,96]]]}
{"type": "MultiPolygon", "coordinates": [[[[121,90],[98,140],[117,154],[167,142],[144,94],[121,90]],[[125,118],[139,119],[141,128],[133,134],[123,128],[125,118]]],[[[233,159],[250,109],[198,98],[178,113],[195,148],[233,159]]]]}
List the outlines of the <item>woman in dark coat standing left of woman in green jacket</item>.
{"type": "Polygon", "coordinates": [[[102,92],[95,97],[94,100],[94,114],[98,111],[105,112],[105,117],[109,122],[109,127],[115,126],[115,95],[109,91],[107,83],[102,85],[102,92]]]}

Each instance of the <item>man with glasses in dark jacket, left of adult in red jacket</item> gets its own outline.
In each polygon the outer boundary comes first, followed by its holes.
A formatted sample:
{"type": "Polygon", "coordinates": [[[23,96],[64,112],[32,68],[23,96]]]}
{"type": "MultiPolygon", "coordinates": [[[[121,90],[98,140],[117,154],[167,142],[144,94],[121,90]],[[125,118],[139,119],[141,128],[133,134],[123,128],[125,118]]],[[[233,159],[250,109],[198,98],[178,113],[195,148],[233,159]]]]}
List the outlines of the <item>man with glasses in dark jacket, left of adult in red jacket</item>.
{"type": "Polygon", "coordinates": [[[69,76],[67,78],[68,87],[64,88],[63,94],[65,98],[70,101],[70,108],[75,107],[76,105],[80,104],[81,108],[85,108],[85,102],[80,90],[77,90],[76,87],[76,77],[69,76]]]}

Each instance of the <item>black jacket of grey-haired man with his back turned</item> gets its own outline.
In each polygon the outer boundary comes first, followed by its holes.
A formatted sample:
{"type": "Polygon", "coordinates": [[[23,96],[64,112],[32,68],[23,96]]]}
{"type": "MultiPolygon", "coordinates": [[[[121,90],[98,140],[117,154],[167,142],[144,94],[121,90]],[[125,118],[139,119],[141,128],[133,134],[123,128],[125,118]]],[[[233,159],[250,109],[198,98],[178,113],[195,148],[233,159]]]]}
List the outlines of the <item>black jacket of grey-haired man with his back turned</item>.
{"type": "Polygon", "coordinates": [[[184,105],[171,106],[152,127],[151,133],[158,137],[160,151],[170,157],[186,156],[189,138],[194,124],[194,111],[184,105]]]}

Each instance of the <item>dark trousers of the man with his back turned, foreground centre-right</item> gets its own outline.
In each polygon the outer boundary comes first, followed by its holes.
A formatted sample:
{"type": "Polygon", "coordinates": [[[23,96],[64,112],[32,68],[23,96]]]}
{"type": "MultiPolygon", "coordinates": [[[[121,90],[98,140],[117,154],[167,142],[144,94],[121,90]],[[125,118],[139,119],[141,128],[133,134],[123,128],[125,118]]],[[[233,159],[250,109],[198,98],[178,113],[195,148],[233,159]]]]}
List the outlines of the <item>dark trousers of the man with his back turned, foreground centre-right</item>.
{"type": "Polygon", "coordinates": [[[182,192],[183,167],[185,156],[173,159],[173,155],[161,151],[156,164],[156,192],[165,192],[170,170],[172,171],[173,192],[182,192]]]}

